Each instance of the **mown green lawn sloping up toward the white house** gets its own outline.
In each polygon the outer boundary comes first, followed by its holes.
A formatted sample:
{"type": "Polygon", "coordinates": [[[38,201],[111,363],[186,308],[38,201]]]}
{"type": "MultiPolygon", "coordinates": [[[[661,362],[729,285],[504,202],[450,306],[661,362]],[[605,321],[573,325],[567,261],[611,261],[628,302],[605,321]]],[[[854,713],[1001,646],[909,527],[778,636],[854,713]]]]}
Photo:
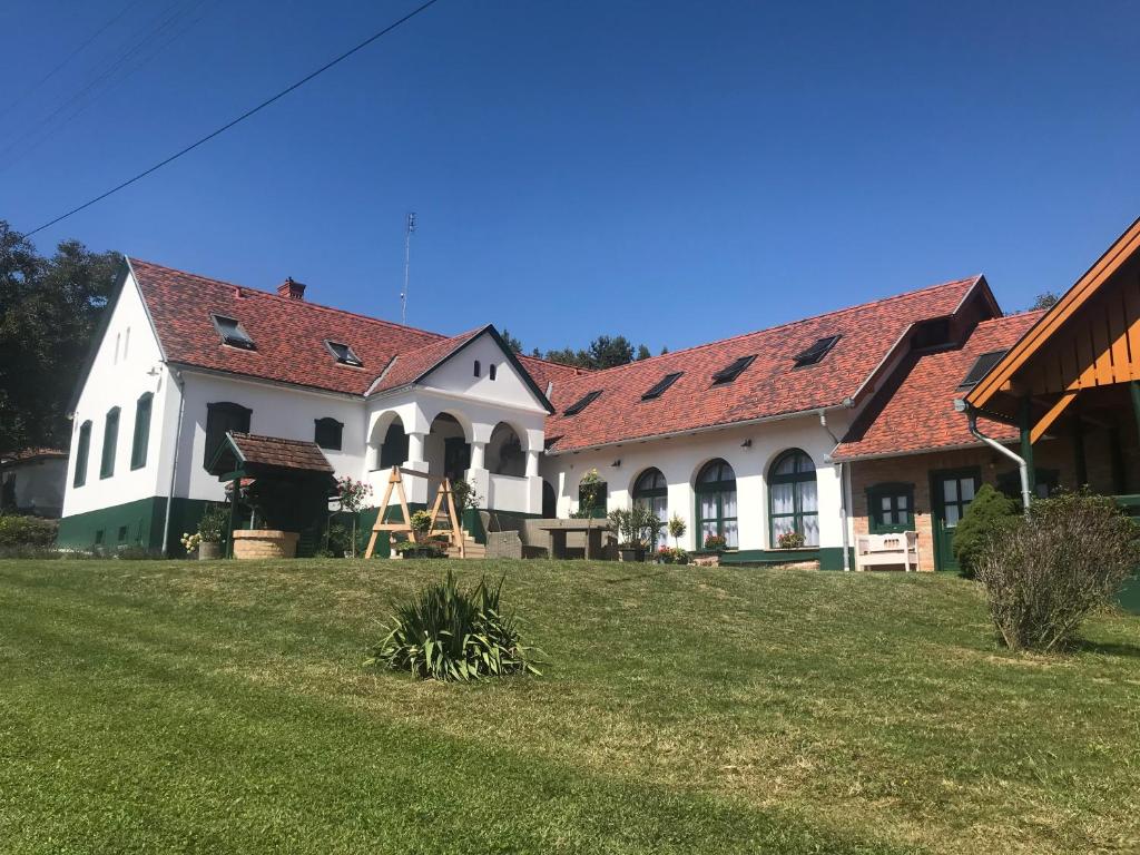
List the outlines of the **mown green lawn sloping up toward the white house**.
{"type": "Polygon", "coordinates": [[[361,668],[441,562],[0,562],[0,850],[1140,849],[1140,619],[945,576],[507,575],[543,678],[361,668]]]}

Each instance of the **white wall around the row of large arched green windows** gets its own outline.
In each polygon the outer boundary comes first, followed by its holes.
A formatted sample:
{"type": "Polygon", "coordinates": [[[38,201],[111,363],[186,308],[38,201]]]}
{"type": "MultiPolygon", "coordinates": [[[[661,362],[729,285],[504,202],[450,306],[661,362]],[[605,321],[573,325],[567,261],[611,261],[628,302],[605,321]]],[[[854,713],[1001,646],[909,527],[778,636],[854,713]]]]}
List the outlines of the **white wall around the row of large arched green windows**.
{"type": "MultiPolygon", "coordinates": [[[[829,425],[837,435],[846,430],[849,414],[829,414],[829,425]]],[[[720,457],[736,473],[736,500],[741,549],[771,549],[768,526],[767,471],[772,462],[789,448],[803,449],[816,466],[820,505],[820,545],[842,545],[840,526],[840,481],[837,466],[825,456],[834,447],[820,425],[819,416],[728,427],[669,439],[621,443],[595,451],[551,455],[543,459],[542,474],[557,495],[557,514],[569,516],[578,507],[578,484],[591,469],[596,469],[609,487],[609,507],[628,507],[637,477],[651,466],[661,470],[669,484],[668,513],[679,514],[687,523],[682,546],[697,548],[697,473],[708,461],[720,457]],[[751,440],[746,448],[742,443],[751,440]],[[620,461],[620,465],[612,464],[620,461]]],[[[671,538],[669,539],[671,544],[671,538]]]]}

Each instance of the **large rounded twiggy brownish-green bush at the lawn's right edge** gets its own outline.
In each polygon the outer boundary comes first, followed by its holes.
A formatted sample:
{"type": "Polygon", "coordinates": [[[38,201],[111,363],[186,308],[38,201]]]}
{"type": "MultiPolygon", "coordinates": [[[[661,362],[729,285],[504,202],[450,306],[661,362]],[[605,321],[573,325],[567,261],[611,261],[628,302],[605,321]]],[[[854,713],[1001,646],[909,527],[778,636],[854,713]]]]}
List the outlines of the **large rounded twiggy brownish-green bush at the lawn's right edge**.
{"type": "Polygon", "coordinates": [[[1140,529],[1112,498],[1088,491],[1039,499],[976,559],[990,616],[1011,650],[1050,651],[1107,605],[1140,563],[1140,529]]]}

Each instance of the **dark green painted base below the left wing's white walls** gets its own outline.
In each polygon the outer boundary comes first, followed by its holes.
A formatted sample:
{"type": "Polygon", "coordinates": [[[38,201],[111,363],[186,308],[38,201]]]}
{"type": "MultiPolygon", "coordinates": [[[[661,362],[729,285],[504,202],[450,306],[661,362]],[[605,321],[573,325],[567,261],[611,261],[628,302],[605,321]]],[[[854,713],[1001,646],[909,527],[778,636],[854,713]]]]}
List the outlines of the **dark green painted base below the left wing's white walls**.
{"type": "MultiPolygon", "coordinates": [[[[198,520],[206,505],[201,499],[176,498],[170,506],[170,543],[168,555],[185,557],[181,537],[186,531],[197,531],[198,520]]],[[[56,545],[62,549],[115,549],[120,546],[141,546],[162,549],[162,531],[166,521],[166,497],[152,496],[122,505],[100,507],[82,514],[65,516],[59,521],[56,545]]]]}

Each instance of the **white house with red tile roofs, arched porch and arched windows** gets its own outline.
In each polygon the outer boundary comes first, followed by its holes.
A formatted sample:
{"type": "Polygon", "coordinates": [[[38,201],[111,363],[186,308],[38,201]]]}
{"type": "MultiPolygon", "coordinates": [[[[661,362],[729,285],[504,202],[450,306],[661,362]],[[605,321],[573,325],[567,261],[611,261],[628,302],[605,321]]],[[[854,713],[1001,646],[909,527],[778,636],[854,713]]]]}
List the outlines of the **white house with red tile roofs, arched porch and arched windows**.
{"type": "MultiPolygon", "coordinates": [[[[512,353],[491,326],[448,337],[318,306],[292,279],[269,293],[124,259],[73,402],[59,540],[176,551],[225,499],[207,464],[238,431],[316,442],[376,500],[393,464],[465,477],[506,524],[570,515],[596,470],[608,507],[679,515],[689,548],[718,534],[730,560],[787,560],[796,530],[793,557],[838,569],[839,438],[912,351],[992,306],[972,277],[586,372],[512,353]]],[[[409,499],[429,500],[425,480],[409,499]]]]}

